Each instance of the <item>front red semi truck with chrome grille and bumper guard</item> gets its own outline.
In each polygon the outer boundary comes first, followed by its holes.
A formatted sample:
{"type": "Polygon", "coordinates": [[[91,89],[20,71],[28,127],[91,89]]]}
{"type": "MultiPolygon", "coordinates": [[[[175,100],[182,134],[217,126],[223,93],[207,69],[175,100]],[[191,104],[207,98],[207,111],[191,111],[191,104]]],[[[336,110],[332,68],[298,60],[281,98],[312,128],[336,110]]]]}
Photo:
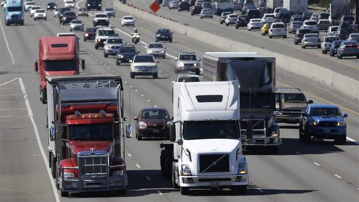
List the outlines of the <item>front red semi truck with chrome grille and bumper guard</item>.
{"type": "Polygon", "coordinates": [[[120,76],[45,77],[49,167],[62,197],[69,193],[125,194],[125,137],[120,76]]]}

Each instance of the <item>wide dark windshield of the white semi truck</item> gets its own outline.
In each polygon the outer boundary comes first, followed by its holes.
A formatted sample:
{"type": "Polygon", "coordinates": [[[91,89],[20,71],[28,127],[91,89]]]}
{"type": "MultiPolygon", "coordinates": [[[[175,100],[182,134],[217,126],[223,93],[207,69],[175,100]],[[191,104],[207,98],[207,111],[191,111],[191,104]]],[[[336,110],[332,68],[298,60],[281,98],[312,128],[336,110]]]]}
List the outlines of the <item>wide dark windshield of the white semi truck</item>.
{"type": "Polygon", "coordinates": [[[233,121],[184,121],[183,139],[238,139],[239,124],[233,121]]]}

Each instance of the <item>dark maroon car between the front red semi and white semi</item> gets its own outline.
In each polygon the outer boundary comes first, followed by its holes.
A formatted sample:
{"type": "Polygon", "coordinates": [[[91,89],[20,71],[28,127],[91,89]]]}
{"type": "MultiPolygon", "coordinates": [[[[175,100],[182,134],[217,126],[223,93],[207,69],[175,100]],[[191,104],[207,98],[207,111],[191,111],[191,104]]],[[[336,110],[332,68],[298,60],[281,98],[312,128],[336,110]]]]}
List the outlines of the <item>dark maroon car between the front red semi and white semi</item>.
{"type": "Polygon", "coordinates": [[[134,119],[137,140],[142,140],[143,137],[170,137],[167,122],[171,121],[171,117],[166,108],[143,108],[134,119]]]}

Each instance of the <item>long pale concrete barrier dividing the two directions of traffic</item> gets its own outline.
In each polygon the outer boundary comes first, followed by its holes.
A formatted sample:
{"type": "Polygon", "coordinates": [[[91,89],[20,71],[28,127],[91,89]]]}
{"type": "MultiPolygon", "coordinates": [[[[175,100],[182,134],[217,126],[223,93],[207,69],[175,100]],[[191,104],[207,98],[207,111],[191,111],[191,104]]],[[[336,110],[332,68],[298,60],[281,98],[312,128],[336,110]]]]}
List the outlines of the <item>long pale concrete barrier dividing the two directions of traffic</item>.
{"type": "Polygon", "coordinates": [[[131,7],[128,4],[123,4],[119,0],[113,0],[113,6],[116,9],[127,12],[137,18],[162,25],[179,34],[186,35],[192,39],[213,45],[223,50],[233,52],[257,52],[262,55],[275,57],[277,61],[277,68],[279,67],[295,74],[319,81],[343,92],[348,96],[357,99],[359,98],[359,81],[319,65],[311,64],[303,60],[288,57],[286,55],[275,53],[262,48],[253,47],[245,43],[233,41],[202,30],[198,30],[193,27],[180,24],[174,19],[166,19],[165,16],[154,15],[153,13],[151,14],[150,11],[141,10],[139,8],[131,7]]]}

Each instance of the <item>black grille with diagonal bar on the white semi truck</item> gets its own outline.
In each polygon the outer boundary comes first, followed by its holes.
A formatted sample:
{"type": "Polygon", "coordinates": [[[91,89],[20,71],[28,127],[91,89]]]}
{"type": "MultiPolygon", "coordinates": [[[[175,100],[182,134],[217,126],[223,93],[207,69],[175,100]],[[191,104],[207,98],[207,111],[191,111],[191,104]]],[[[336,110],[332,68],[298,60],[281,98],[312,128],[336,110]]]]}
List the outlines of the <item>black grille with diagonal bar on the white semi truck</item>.
{"type": "Polygon", "coordinates": [[[229,172],[228,154],[203,154],[199,155],[200,173],[229,172]]]}

